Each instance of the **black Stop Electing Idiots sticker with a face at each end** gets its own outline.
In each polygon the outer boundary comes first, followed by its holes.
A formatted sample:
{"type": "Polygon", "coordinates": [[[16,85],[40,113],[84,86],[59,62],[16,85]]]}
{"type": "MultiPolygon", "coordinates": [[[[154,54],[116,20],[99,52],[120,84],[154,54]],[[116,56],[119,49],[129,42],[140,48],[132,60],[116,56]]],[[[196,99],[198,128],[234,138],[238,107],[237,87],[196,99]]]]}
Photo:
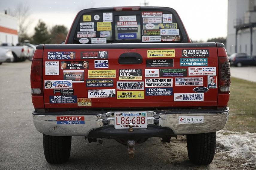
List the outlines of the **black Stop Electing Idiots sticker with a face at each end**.
{"type": "Polygon", "coordinates": [[[88,69],[89,62],[88,61],[62,61],[61,62],[61,70],[78,70],[78,69],[88,69]]]}

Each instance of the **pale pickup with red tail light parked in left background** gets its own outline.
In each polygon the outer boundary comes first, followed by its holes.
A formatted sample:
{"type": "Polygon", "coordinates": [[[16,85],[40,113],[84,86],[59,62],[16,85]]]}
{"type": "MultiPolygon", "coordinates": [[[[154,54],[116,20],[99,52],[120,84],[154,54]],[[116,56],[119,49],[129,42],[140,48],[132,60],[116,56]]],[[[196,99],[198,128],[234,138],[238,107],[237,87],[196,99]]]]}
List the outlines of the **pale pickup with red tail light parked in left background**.
{"type": "Polygon", "coordinates": [[[2,43],[0,46],[4,49],[8,49],[12,51],[14,61],[25,61],[29,56],[29,49],[28,46],[13,46],[13,44],[10,43],[2,43]]]}

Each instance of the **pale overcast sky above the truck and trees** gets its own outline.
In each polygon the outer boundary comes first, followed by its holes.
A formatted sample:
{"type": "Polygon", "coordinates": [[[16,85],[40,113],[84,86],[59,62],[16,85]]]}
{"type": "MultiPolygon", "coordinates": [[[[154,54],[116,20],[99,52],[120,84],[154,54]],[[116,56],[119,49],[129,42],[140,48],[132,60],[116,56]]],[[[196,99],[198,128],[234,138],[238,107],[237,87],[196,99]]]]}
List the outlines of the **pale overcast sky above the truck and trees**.
{"type": "MultiPolygon", "coordinates": [[[[91,7],[143,6],[144,0],[0,0],[0,12],[15,10],[22,2],[29,5],[28,34],[41,19],[49,28],[56,24],[70,28],[79,10],[91,7]]],[[[180,15],[193,40],[227,36],[228,0],[147,0],[148,6],[171,7],[180,15]]]]}

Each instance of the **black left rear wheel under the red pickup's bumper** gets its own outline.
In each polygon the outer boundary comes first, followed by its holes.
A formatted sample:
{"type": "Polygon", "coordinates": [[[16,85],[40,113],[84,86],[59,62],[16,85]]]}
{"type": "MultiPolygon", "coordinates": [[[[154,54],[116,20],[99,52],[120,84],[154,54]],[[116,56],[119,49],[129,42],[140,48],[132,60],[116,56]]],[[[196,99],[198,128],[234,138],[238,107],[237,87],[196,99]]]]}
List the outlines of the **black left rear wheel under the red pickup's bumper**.
{"type": "Polygon", "coordinates": [[[65,163],[69,160],[71,136],[43,134],[43,151],[48,163],[65,163]]]}

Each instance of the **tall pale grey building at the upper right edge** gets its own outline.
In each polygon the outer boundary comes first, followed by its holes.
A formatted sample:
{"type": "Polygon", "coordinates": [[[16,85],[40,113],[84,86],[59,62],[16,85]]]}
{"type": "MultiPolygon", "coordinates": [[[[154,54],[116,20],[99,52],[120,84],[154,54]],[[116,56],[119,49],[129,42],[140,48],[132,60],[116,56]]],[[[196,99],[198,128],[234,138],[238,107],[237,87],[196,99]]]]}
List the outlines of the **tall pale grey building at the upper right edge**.
{"type": "Polygon", "coordinates": [[[228,0],[226,50],[256,55],[256,0],[228,0]]]}

